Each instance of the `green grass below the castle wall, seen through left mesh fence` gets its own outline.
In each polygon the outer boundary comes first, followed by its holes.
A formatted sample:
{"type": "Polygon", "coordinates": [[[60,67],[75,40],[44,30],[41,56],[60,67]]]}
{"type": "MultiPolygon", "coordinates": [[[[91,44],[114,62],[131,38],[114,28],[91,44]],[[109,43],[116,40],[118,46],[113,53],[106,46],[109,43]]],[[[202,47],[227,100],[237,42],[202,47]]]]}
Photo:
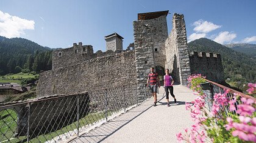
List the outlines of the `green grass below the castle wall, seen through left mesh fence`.
{"type": "MultiPolygon", "coordinates": [[[[108,112],[108,116],[109,115],[112,115],[112,111],[108,112]]],[[[96,122],[96,121],[101,121],[104,118],[105,118],[104,111],[89,113],[84,118],[79,119],[79,127],[92,124],[93,122],[96,122]]],[[[0,127],[1,127],[0,142],[26,141],[27,136],[19,136],[18,138],[16,138],[14,135],[16,131],[16,119],[17,119],[17,115],[15,111],[11,109],[0,111],[0,127]],[[10,141],[8,141],[7,139],[10,139],[10,141]]],[[[37,136],[36,138],[30,139],[30,142],[46,142],[55,138],[56,136],[63,135],[68,131],[73,131],[76,128],[77,128],[77,121],[67,125],[66,127],[61,128],[60,130],[56,130],[51,133],[40,135],[40,136],[37,136]]]]}

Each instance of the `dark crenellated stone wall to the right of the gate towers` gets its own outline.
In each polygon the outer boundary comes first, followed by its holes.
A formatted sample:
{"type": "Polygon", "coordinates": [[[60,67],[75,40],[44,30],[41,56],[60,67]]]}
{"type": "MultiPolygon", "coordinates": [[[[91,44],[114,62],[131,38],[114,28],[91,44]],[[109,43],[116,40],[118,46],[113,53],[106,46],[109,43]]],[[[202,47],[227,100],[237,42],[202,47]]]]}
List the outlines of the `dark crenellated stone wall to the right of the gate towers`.
{"type": "Polygon", "coordinates": [[[221,55],[213,53],[197,53],[190,54],[191,74],[201,73],[213,82],[224,82],[224,70],[221,62],[221,55]]]}

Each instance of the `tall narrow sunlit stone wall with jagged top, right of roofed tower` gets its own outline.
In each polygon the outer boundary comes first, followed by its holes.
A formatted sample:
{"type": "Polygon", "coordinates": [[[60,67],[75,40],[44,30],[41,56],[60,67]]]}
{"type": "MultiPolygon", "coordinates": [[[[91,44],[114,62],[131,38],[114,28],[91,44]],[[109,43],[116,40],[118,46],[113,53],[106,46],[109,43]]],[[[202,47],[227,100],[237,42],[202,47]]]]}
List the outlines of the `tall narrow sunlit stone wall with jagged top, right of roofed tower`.
{"type": "Polygon", "coordinates": [[[190,59],[187,45],[187,31],[183,15],[174,13],[172,31],[165,41],[166,68],[171,69],[178,84],[187,85],[190,75],[190,59]]]}

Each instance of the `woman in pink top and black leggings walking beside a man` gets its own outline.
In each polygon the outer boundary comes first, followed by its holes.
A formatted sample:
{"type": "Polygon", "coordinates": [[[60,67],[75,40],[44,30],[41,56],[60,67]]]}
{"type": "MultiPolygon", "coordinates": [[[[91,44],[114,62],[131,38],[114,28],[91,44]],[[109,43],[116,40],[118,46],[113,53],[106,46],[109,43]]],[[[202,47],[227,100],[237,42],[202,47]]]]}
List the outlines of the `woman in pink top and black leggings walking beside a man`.
{"type": "Polygon", "coordinates": [[[165,76],[163,77],[163,82],[165,84],[165,93],[166,93],[166,100],[167,100],[167,106],[169,107],[169,91],[171,93],[172,98],[174,98],[174,103],[176,103],[176,98],[173,94],[173,82],[174,80],[172,79],[170,73],[169,73],[169,69],[165,70],[165,76]],[[168,91],[169,90],[169,91],[168,91]]]}

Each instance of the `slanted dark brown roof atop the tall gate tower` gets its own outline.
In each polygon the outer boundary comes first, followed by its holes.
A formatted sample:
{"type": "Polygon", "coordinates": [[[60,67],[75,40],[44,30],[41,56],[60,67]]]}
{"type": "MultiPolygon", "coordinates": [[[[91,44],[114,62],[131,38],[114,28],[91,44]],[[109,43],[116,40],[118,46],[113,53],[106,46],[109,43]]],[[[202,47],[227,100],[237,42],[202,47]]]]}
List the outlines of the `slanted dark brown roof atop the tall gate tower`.
{"type": "Polygon", "coordinates": [[[169,10],[161,11],[161,12],[149,12],[149,13],[138,13],[138,20],[148,20],[159,18],[162,15],[167,16],[169,10]]]}

